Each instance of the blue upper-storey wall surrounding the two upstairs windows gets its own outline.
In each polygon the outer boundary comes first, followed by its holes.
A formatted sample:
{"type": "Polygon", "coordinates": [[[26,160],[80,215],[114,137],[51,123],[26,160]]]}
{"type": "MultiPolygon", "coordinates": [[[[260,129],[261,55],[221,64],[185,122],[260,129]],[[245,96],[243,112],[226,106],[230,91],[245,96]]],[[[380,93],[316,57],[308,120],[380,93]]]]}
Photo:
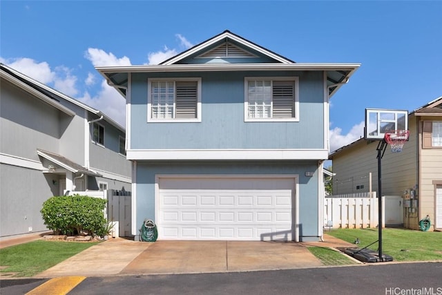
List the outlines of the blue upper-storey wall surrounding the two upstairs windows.
{"type": "MultiPolygon", "coordinates": [[[[185,73],[169,77],[185,77],[185,73]]],[[[133,75],[131,149],[323,149],[323,73],[191,73],[202,78],[202,121],[147,123],[146,74],[133,75]],[[300,122],[244,122],[244,77],[298,76],[300,122]]],[[[167,77],[157,73],[155,77],[167,77]]]]}

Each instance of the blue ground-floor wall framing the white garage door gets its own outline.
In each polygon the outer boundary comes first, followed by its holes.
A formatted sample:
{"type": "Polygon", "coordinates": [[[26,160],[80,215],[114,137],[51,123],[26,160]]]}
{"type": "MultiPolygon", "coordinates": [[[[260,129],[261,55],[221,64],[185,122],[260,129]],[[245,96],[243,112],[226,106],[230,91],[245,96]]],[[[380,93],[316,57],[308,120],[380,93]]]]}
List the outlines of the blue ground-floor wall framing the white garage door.
{"type": "MultiPolygon", "coordinates": [[[[155,174],[298,174],[299,222],[307,237],[318,237],[318,166],[316,161],[305,162],[137,162],[136,198],[137,230],[145,218],[155,220],[155,174]],[[306,177],[306,171],[314,171],[306,177]]],[[[136,234],[139,234],[138,232],[136,234]]]]}

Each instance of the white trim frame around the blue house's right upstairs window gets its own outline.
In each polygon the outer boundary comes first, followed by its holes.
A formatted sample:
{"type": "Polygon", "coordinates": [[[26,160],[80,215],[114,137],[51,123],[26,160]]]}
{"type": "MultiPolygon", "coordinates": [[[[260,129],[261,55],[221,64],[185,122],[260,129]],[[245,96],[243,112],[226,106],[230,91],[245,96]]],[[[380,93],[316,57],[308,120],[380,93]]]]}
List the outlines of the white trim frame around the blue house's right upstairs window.
{"type": "Polygon", "coordinates": [[[299,122],[299,77],[244,77],[244,122],[299,122]],[[295,82],[295,117],[293,118],[249,118],[248,87],[249,81],[294,81],[295,82]]]}

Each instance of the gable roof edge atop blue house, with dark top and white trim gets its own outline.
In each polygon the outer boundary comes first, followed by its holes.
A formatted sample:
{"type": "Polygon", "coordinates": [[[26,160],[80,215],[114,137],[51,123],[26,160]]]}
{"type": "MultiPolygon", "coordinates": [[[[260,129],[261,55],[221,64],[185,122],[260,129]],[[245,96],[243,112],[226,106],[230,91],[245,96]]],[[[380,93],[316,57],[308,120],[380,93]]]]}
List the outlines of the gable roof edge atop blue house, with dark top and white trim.
{"type": "Polygon", "coordinates": [[[192,48],[189,48],[188,50],[184,51],[183,53],[180,53],[179,55],[175,55],[174,57],[171,57],[170,59],[166,59],[160,64],[164,65],[171,65],[171,64],[177,64],[178,61],[181,61],[182,59],[185,59],[186,57],[189,57],[191,55],[194,55],[195,53],[202,53],[204,50],[212,46],[213,44],[216,44],[220,41],[226,41],[226,44],[229,44],[228,41],[235,41],[238,44],[241,44],[245,48],[250,48],[251,50],[255,50],[258,53],[262,53],[262,55],[266,55],[267,57],[273,59],[276,62],[280,62],[282,64],[293,64],[294,61],[291,61],[290,59],[287,59],[286,57],[282,57],[282,55],[278,55],[276,53],[273,53],[272,51],[259,46],[258,44],[254,44],[253,42],[244,39],[236,34],[233,34],[229,30],[225,30],[219,35],[216,35],[215,37],[211,37],[210,39],[203,41],[202,43],[193,46],[192,48]]]}

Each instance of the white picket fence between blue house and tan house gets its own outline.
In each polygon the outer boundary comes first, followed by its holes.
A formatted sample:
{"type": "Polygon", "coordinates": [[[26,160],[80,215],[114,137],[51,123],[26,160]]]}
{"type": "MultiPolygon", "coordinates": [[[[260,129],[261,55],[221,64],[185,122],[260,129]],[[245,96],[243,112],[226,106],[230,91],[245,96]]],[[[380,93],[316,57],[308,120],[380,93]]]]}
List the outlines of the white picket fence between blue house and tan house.
{"type": "MultiPolygon", "coordinates": [[[[382,200],[383,208],[384,198],[382,200]]],[[[382,220],[385,220],[385,210],[382,220]]],[[[365,229],[378,226],[376,192],[328,196],[324,201],[324,225],[328,228],[365,229]]],[[[383,222],[385,227],[385,222],[383,222]]]]}

